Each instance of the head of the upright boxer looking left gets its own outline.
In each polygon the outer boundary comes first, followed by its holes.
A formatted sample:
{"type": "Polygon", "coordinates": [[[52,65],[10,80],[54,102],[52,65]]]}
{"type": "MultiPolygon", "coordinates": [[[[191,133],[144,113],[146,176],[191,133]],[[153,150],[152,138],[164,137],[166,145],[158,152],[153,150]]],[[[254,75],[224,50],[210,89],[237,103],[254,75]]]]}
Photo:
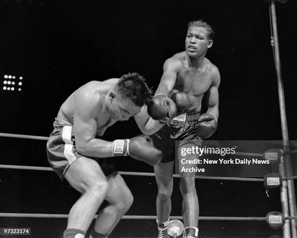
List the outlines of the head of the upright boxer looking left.
{"type": "Polygon", "coordinates": [[[185,49],[192,58],[198,58],[213,45],[214,30],[202,20],[191,21],[188,24],[185,49]]]}

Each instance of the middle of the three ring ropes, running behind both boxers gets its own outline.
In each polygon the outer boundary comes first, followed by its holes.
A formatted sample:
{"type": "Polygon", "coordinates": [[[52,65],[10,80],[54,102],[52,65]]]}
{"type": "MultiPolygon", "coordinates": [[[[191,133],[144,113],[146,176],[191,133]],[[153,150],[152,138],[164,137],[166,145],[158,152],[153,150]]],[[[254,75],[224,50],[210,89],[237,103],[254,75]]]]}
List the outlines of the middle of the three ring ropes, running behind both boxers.
{"type": "MultiPolygon", "coordinates": [[[[50,167],[36,167],[36,166],[20,166],[20,165],[0,165],[0,169],[13,169],[13,170],[40,170],[40,171],[53,171],[50,167]]],[[[126,172],[118,171],[121,175],[136,175],[136,176],[152,176],[154,173],[148,172],[126,172]]],[[[180,178],[180,174],[173,174],[174,178],[180,178]]],[[[195,176],[198,179],[216,179],[216,180],[232,180],[232,181],[252,181],[263,182],[262,178],[238,178],[238,177],[211,177],[211,176],[195,176]]]]}

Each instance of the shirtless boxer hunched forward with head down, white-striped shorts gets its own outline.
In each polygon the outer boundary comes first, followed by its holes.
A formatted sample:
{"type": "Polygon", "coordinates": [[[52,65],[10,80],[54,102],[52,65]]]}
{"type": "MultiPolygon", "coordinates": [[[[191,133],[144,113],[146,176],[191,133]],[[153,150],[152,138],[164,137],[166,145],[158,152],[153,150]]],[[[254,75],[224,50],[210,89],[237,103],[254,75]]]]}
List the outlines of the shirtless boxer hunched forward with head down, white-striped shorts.
{"type": "Polygon", "coordinates": [[[130,208],[131,191],[108,157],[130,155],[150,165],[160,162],[162,152],[151,145],[149,136],[102,139],[115,121],[136,115],[150,98],[145,80],[129,73],[89,82],[62,104],[47,144],[48,160],[62,181],[82,193],[70,210],[64,238],[84,238],[103,200],[109,205],[99,212],[91,238],[108,237],[130,208]]]}

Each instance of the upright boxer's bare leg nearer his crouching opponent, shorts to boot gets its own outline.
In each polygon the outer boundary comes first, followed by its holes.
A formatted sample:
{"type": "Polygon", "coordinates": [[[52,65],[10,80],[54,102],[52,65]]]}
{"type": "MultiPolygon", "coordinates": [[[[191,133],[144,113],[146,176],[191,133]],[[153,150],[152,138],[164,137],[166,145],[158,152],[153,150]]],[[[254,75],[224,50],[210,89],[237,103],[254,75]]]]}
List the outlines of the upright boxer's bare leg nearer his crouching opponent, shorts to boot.
{"type": "Polygon", "coordinates": [[[158,195],[156,200],[157,221],[166,222],[171,212],[171,194],[173,188],[173,165],[174,161],[159,163],[154,166],[158,195]]]}

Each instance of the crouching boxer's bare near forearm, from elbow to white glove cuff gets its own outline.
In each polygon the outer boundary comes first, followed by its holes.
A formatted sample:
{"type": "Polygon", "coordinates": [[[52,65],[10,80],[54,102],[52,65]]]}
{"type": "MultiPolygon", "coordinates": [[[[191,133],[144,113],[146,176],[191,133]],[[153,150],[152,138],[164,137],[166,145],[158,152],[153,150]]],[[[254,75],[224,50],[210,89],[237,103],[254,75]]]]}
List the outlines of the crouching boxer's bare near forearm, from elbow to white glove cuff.
{"type": "Polygon", "coordinates": [[[106,158],[113,156],[113,142],[93,138],[87,142],[76,143],[78,153],[86,157],[106,158]]]}

